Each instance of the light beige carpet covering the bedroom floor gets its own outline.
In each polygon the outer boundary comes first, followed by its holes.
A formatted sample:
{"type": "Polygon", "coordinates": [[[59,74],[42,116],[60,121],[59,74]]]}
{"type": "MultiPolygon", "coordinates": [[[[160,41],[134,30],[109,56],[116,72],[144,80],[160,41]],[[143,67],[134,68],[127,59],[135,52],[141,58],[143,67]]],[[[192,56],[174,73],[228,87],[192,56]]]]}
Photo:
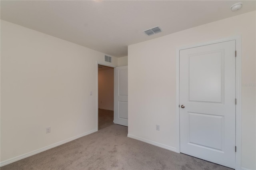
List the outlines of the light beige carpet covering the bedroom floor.
{"type": "Polygon", "coordinates": [[[1,170],[230,170],[128,138],[127,132],[127,127],[111,125],[1,170]]]}

